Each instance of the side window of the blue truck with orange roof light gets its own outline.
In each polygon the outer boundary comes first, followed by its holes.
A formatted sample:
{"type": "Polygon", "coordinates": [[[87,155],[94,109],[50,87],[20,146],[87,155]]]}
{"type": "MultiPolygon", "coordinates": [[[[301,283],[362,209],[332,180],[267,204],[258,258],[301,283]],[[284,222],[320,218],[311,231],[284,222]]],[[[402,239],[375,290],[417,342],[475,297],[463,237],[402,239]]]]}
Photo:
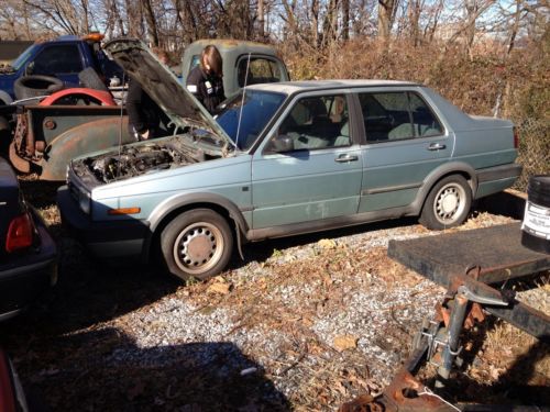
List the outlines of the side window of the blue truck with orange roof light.
{"type": "Polygon", "coordinates": [[[34,59],[33,74],[36,75],[74,74],[81,70],[82,62],[75,44],[46,47],[34,59]]]}

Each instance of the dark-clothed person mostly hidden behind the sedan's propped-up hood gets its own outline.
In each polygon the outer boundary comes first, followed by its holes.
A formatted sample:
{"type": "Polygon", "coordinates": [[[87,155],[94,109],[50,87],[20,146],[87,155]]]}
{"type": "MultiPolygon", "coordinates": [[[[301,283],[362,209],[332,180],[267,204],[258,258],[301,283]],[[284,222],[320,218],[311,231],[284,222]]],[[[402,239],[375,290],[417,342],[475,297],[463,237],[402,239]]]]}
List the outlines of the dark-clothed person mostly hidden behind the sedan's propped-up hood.
{"type": "MultiPolygon", "coordinates": [[[[166,64],[168,56],[162,48],[153,48],[158,59],[166,64]]],[[[130,79],[127,96],[128,129],[136,141],[161,135],[162,110],[134,79],[130,79]]]]}

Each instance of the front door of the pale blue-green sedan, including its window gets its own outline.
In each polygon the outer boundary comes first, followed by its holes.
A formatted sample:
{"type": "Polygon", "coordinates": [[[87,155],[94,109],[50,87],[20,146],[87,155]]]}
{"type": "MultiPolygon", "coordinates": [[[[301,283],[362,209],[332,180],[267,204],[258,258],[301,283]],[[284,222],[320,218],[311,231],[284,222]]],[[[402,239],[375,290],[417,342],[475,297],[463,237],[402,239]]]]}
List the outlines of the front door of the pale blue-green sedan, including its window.
{"type": "Polygon", "coordinates": [[[362,159],[348,108],[344,92],[294,99],[253,156],[254,229],[356,213],[362,159]]]}

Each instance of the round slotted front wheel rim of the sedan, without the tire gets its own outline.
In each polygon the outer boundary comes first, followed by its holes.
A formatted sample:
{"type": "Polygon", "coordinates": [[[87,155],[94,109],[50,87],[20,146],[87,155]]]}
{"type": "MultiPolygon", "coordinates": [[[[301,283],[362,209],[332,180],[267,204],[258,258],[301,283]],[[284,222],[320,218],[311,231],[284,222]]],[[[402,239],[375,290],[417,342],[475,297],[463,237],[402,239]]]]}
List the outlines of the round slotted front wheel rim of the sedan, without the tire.
{"type": "Polygon", "coordinates": [[[218,227],[207,222],[190,224],[174,243],[174,258],[188,274],[201,274],[215,266],[223,252],[223,236],[218,227]]]}

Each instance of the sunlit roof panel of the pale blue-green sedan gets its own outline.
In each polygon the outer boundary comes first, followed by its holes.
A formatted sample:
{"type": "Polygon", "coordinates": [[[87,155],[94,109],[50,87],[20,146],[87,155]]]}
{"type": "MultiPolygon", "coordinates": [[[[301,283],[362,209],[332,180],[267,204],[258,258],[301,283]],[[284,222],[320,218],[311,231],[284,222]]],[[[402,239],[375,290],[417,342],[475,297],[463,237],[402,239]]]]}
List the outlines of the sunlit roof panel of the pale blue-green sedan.
{"type": "Polygon", "coordinates": [[[315,90],[324,90],[334,88],[384,87],[384,86],[421,86],[421,85],[413,81],[402,81],[402,80],[334,79],[334,80],[282,81],[273,83],[251,85],[248,87],[248,89],[275,91],[275,92],[292,94],[300,91],[315,91],[315,90]]]}

